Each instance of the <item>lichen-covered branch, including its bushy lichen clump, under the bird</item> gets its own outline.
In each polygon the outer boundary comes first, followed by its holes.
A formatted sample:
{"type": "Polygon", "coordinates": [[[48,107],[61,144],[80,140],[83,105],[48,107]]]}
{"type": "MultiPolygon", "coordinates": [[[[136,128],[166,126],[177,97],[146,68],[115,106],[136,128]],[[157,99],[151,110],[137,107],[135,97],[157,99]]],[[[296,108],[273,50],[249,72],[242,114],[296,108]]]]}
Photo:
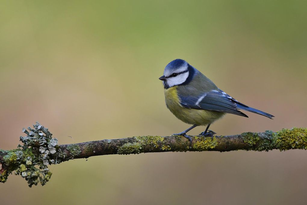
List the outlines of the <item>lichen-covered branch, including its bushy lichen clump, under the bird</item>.
{"type": "Polygon", "coordinates": [[[22,149],[0,149],[0,181],[6,182],[15,171],[28,181],[29,187],[45,185],[52,175],[49,164],[59,164],[71,159],[98,155],[139,154],[147,152],[186,152],[233,150],[268,151],[272,149],[306,149],[307,128],[282,129],[278,132],[245,132],[231,136],[191,136],[192,145],[182,136],[136,136],[115,140],[98,140],[77,144],[58,145],[48,128],[36,123],[34,129],[22,130],[27,136],[20,137],[22,149]]]}

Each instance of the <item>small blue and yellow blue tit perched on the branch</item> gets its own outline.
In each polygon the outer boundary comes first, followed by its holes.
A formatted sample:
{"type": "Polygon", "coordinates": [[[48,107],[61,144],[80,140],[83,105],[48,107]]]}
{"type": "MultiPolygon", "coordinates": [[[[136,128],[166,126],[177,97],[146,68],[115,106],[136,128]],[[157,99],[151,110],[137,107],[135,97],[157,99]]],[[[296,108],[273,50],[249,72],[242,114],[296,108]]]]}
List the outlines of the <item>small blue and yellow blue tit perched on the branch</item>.
{"type": "Polygon", "coordinates": [[[192,126],[174,136],[185,136],[192,144],[187,132],[197,126],[207,126],[201,136],[213,138],[216,132],[210,125],[231,113],[248,117],[240,110],[253,112],[273,119],[273,115],[251,108],[219,89],[208,77],[187,61],[175,59],[166,65],[163,76],[166,107],[181,121],[192,126]]]}

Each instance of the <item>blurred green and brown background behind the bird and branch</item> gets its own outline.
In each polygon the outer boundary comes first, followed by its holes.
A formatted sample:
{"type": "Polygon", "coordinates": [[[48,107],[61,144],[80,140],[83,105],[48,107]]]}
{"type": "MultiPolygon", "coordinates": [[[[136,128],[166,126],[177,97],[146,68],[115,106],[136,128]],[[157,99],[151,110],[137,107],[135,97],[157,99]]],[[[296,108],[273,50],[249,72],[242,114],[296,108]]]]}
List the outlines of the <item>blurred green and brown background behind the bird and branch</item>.
{"type": "MultiPolygon", "coordinates": [[[[227,115],[210,127],[219,135],[306,127],[306,9],[306,1],[1,1],[0,148],[16,148],[35,121],[60,144],[181,132],[189,125],[167,110],[158,80],[176,58],[276,116],[227,115]]],[[[10,175],[1,203],[307,203],[301,150],[96,156],[51,170],[44,187],[10,175]]]]}

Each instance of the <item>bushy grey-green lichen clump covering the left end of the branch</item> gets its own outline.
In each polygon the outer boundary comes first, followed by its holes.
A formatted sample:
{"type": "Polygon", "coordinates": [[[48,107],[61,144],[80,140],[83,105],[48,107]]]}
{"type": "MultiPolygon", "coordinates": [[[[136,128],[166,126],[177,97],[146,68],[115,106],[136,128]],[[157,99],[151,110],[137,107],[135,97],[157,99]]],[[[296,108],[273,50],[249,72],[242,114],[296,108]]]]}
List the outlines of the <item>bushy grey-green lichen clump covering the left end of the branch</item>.
{"type": "Polygon", "coordinates": [[[22,132],[27,136],[20,137],[23,145],[18,145],[18,148],[22,149],[0,150],[6,154],[3,156],[6,170],[0,174],[0,182],[5,182],[14,170],[16,175],[27,180],[29,187],[38,183],[45,185],[50,179],[48,165],[56,163],[57,139],[52,138],[48,128],[39,123],[33,124],[33,127],[28,127],[29,131],[23,128],[22,132]]]}

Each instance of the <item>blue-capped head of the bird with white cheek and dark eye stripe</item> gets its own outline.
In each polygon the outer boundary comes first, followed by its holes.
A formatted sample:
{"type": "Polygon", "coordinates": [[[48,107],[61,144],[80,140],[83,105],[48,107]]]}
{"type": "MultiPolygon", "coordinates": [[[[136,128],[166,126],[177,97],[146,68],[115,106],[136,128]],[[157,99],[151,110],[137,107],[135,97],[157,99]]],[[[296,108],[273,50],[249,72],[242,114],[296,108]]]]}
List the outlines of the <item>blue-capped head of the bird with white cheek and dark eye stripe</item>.
{"type": "Polygon", "coordinates": [[[176,59],[166,65],[164,75],[159,77],[165,88],[188,83],[194,74],[194,68],[187,61],[176,59]]]}

